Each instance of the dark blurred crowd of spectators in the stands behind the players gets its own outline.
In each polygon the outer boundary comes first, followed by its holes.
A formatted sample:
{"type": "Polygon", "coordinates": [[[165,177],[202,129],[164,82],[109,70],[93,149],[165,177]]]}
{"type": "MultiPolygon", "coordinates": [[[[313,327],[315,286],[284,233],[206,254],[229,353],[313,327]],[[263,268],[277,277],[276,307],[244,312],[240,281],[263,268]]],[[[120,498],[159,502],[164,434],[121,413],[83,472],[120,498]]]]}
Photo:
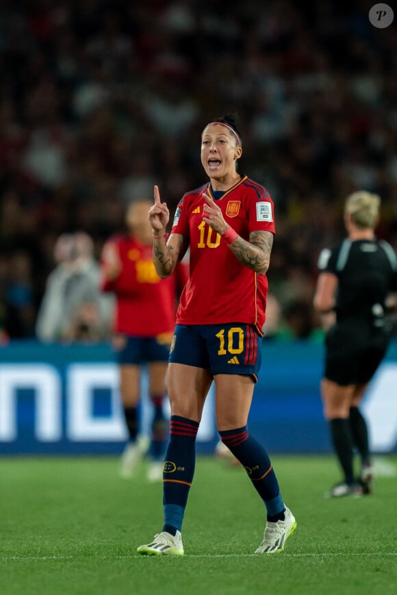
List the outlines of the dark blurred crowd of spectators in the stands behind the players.
{"type": "MultiPolygon", "coordinates": [[[[97,261],[154,183],[175,210],[206,181],[201,131],[225,112],[238,114],[240,170],[277,212],[266,335],[316,336],[317,257],[344,235],[348,193],[381,195],[378,234],[397,249],[396,21],[372,27],[372,4],[2,0],[3,340],[40,334],[47,281],[73,234],[97,261]]],[[[62,338],[107,336],[90,303],[62,338]]]]}

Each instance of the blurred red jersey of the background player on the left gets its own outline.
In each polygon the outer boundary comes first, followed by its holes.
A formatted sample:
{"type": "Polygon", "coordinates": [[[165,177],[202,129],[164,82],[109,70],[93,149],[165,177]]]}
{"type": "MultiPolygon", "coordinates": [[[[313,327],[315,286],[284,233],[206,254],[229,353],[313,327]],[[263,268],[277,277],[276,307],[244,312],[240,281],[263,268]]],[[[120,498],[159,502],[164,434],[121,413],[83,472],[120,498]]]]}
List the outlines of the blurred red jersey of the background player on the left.
{"type": "Polygon", "coordinates": [[[120,275],[109,281],[102,262],[101,289],[116,295],[114,330],[135,337],[172,333],[177,288],[185,281],[181,279],[183,271],[179,268],[176,276],[160,279],[155,272],[151,245],[123,236],[109,240],[104,251],[109,243],[116,246],[122,264],[120,275]]]}

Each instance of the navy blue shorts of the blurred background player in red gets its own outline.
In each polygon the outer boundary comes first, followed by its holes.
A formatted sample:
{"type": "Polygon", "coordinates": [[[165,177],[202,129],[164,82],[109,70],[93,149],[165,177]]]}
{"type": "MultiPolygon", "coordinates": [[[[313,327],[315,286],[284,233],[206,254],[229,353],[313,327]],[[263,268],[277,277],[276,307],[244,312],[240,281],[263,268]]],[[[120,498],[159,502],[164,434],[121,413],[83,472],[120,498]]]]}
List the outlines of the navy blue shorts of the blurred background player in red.
{"type": "Polygon", "coordinates": [[[118,335],[113,340],[116,362],[120,366],[168,362],[170,339],[170,335],[159,335],[156,338],[118,335]]]}

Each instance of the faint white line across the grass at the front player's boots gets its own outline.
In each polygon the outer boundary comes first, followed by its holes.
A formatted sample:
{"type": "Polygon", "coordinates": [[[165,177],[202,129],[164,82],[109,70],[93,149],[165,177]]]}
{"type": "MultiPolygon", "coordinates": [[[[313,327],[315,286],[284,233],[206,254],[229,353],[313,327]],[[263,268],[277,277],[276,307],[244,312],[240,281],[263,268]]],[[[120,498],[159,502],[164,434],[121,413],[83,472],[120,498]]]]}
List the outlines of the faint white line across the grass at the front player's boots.
{"type": "MultiPolygon", "coordinates": [[[[268,555],[263,555],[266,558],[268,555]]],[[[282,557],[285,558],[336,558],[336,557],[397,557],[397,552],[362,552],[362,553],[347,553],[347,552],[334,552],[334,553],[302,553],[302,554],[288,554],[283,553],[282,557]]],[[[0,561],[31,561],[31,560],[118,560],[118,559],[131,559],[137,557],[135,553],[132,555],[123,556],[91,556],[91,557],[75,557],[75,556],[0,556],[0,561]]],[[[149,556],[148,556],[149,557],[149,556]]],[[[157,556],[150,556],[155,558],[157,556]]],[[[166,557],[166,556],[162,556],[166,557]]],[[[173,557],[173,556],[171,556],[173,557]]],[[[259,558],[261,554],[185,554],[181,556],[183,558],[259,558]]]]}

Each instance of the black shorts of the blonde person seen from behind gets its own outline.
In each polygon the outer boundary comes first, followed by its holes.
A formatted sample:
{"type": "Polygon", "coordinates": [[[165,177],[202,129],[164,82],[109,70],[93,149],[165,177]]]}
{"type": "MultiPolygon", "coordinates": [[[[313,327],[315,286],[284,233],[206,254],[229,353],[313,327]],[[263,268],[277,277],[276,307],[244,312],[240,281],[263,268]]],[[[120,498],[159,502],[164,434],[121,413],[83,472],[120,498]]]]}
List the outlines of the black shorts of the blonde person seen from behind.
{"type": "Polygon", "coordinates": [[[326,336],[324,377],[340,386],[367,384],[387,350],[389,338],[363,325],[335,325],[326,336]]]}

